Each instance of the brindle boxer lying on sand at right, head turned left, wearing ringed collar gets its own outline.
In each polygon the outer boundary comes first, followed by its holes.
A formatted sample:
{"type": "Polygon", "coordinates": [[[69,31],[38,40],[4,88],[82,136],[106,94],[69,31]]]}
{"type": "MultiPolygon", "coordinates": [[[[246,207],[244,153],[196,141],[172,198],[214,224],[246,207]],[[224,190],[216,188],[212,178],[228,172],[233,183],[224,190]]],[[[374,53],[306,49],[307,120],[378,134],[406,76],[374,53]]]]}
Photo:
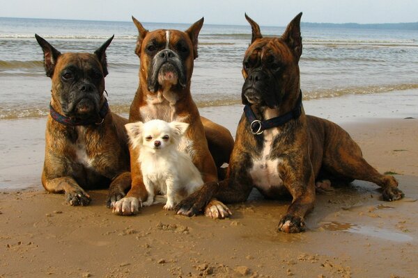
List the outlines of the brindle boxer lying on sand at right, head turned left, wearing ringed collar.
{"type": "Polygon", "coordinates": [[[305,115],[298,62],[302,54],[300,17],[280,38],[263,38],[256,22],[245,53],[242,115],[227,179],[206,183],[176,207],[194,215],[216,197],[225,203],[244,202],[253,187],[268,198],[290,193],[293,202],[278,230],[304,231],[304,216],[314,207],[316,181],[362,179],[382,187],[383,199],[401,199],[391,176],[379,174],[362,157],[359,146],[336,124],[305,115]]]}

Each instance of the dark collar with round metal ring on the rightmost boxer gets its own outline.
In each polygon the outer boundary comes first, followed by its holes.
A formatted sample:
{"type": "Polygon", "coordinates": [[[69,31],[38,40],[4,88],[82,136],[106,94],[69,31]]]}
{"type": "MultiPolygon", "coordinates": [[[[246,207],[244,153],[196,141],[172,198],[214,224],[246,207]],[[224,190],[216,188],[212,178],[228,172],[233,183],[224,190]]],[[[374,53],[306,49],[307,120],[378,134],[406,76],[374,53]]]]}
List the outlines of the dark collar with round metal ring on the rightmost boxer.
{"type": "Polygon", "coordinates": [[[254,112],[251,110],[251,106],[246,105],[244,107],[245,116],[247,117],[247,120],[249,121],[249,128],[251,129],[251,133],[254,135],[260,135],[262,134],[266,129],[271,129],[275,126],[281,126],[283,124],[286,124],[286,122],[297,119],[302,114],[302,90],[300,91],[299,98],[297,99],[297,103],[295,108],[293,108],[292,111],[289,111],[288,113],[281,115],[279,117],[273,117],[269,120],[257,120],[256,115],[254,115],[254,112]]]}

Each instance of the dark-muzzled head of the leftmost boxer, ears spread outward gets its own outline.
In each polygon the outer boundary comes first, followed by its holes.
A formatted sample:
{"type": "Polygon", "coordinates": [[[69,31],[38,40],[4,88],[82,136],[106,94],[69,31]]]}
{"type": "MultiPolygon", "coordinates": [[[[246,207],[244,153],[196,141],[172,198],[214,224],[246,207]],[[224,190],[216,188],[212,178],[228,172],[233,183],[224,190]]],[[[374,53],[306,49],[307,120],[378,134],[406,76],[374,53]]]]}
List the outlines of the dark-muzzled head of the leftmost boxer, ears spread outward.
{"type": "Polygon", "coordinates": [[[106,49],[114,36],[94,54],[65,53],[35,35],[44,53],[44,67],[52,79],[52,106],[75,120],[100,118],[104,101],[104,76],[107,72],[106,49]]]}

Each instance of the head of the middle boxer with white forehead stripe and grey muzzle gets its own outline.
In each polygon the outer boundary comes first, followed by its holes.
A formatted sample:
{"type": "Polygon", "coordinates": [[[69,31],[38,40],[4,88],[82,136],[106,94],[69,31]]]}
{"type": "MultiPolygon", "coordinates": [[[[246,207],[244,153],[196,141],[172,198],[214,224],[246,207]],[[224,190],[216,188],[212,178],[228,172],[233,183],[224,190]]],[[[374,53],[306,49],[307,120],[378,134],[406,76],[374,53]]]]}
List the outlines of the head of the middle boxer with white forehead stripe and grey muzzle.
{"type": "Polygon", "coordinates": [[[135,53],[141,63],[140,82],[151,93],[171,90],[181,94],[183,89],[189,89],[203,17],[185,32],[148,31],[137,19],[132,17],[132,20],[139,31],[135,53]]]}

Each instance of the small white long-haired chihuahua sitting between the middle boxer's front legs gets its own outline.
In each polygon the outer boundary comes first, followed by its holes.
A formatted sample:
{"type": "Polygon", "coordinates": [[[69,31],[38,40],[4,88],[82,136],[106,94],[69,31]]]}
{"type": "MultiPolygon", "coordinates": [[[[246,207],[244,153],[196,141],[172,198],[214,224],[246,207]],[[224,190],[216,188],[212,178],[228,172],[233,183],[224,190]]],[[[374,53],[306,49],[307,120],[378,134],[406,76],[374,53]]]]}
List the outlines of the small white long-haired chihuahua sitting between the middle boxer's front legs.
{"type": "Polygon", "coordinates": [[[156,194],[167,195],[164,209],[171,210],[178,202],[203,185],[201,173],[188,154],[178,149],[189,124],[150,120],[125,124],[132,147],[139,147],[144,184],[148,199],[142,203],[150,206],[156,194]]]}

